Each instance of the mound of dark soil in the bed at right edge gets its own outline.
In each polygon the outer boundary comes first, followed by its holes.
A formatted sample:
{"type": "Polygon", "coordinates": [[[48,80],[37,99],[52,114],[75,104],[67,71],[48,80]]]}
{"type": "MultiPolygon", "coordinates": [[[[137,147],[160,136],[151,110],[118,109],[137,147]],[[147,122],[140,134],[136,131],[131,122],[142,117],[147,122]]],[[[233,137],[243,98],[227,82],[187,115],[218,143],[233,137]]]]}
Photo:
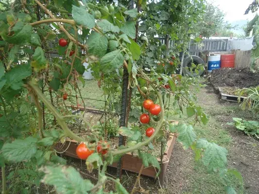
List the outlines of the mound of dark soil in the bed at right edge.
{"type": "Polygon", "coordinates": [[[259,85],[259,73],[254,73],[247,68],[215,69],[208,79],[215,87],[230,86],[242,89],[259,85]]]}

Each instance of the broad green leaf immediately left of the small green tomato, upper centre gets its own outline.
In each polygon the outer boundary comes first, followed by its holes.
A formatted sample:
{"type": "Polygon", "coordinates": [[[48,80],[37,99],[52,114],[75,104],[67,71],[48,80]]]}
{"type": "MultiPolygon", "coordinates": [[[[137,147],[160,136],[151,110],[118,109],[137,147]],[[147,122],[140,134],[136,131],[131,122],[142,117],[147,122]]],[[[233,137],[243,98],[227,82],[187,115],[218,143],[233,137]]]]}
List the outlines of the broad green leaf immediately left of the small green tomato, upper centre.
{"type": "Polygon", "coordinates": [[[103,57],[108,47],[108,40],[104,35],[98,32],[92,32],[86,44],[88,45],[88,52],[90,54],[103,57]]]}

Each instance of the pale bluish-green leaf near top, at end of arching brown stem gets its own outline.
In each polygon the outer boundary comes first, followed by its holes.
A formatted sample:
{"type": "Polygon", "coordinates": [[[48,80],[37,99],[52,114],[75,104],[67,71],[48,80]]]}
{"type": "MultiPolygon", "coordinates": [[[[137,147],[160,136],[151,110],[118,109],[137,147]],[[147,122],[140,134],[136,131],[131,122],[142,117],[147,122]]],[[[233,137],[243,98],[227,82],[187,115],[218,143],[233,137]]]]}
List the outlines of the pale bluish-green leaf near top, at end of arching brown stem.
{"type": "Polygon", "coordinates": [[[86,11],[84,6],[72,7],[72,15],[75,22],[79,25],[83,25],[86,28],[92,29],[95,26],[94,16],[86,11]]]}

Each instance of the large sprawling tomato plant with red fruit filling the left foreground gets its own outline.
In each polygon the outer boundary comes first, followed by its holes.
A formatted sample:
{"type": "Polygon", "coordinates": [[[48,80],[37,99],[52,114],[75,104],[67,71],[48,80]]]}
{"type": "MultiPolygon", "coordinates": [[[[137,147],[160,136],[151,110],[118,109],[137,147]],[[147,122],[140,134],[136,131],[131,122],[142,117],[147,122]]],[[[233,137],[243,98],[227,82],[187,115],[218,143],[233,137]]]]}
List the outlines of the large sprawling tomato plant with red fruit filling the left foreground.
{"type": "Polygon", "coordinates": [[[202,108],[195,105],[195,93],[190,90],[196,80],[178,75],[179,83],[175,84],[171,76],[179,60],[172,58],[174,65],[170,65],[170,56],[179,56],[188,48],[195,23],[204,12],[203,0],[149,3],[139,0],[135,9],[127,9],[126,1],[106,0],[15,0],[12,4],[1,5],[4,6],[4,11],[0,12],[3,194],[35,193],[40,183],[51,185],[57,193],[107,194],[104,185],[108,180],[116,184],[109,194],[126,194],[118,179],[105,174],[107,165],[128,152],[136,152],[144,167],[152,165],[159,174],[157,156],[142,148],[152,142],[163,144],[169,133],[177,135],[184,149],[191,147],[197,155],[195,158],[201,158],[208,172],[220,172],[227,188],[231,188],[230,181],[225,178],[226,149],[197,139],[191,125],[195,121],[206,124],[208,120],[202,108]],[[162,44],[157,35],[164,37],[166,44],[162,44]],[[167,47],[170,38],[176,41],[176,47],[167,47]],[[102,122],[89,123],[84,113],[72,114],[64,102],[69,101],[71,106],[78,103],[67,98],[74,93],[86,106],[78,84],[80,81],[81,85],[86,84],[83,79],[86,62],[98,81],[96,87],[107,95],[105,111],[120,114],[122,90],[123,94],[129,90],[123,96],[128,96],[123,121],[128,127],[111,125],[114,135],[127,136],[127,146],[117,148],[105,142],[100,144],[99,140],[107,138],[101,131],[102,122]],[[168,99],[173,99],[173,108],[168,99]],[[152,126],[146,134],[143,126],[138,127],[142,107],[134,106],[141,103],[144,109],[156,115],[150,120],[147,116],[140,119],[152,126]],[[184,109],[193,121],[177,127],[169,122],[171,115],[183,116],[184,109]],[[74,122],[87,130],[87,137],[71,128],[74,122]],[[96,185],[83,179],[57,155],[59,151],[54,145],[58,142],[66,145],[68,139],[80,143],[74,151],[86,160],[87,170],[98,169],[96,185]],[[14,165],[12,169],[17,170],[5,171],[6,165],[14,165]],[[29,174],[28,169],[35,173],[29,174]],[[26,176],[19,177],[16,172],[26,176]]]}

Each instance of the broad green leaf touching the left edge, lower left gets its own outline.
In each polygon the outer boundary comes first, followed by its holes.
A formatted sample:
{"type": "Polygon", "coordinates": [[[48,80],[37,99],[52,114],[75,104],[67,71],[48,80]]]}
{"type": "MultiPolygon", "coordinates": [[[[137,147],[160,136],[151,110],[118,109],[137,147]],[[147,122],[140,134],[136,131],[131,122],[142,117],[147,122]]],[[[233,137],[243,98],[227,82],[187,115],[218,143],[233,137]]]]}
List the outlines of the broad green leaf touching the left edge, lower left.
{"type": "Polygon", "coordinates": [[[3,157],[11,162],[22,162],[30,160],[37,151],[37,139],[27,137],[23,140],[17,139],[12,143],[6,143],[2,147],[3,157]]]}

